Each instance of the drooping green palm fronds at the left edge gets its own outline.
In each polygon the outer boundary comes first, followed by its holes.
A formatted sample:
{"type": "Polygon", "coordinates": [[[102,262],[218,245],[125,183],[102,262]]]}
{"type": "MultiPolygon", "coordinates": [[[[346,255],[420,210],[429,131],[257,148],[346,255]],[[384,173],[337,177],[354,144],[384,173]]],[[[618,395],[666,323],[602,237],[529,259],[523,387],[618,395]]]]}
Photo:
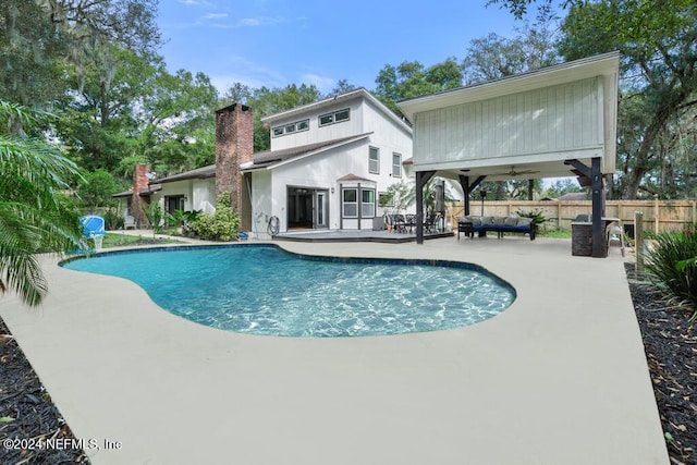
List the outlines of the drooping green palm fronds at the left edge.
{"type": "MultiPolygon", "coordinates": [[[[0,123],[30,126],[47,113],[0,100],[0,123]]],[[[57,146],[0,127],[0,293],[15,291],[35,306],[48,292],[36,258],[39,250],[83,246],[74,207],[61,201],[61,191],[80,179],[77,167],[57,146]]]]}

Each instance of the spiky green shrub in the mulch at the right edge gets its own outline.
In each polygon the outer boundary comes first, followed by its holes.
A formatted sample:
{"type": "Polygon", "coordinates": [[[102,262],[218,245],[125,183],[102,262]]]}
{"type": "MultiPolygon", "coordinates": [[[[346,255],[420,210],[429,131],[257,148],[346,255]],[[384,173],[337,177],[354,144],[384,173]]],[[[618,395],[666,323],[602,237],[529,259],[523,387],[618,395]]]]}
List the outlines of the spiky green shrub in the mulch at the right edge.
{"type": "Polygon", "coordinates": [[[678,305],[690,308],[697,318],[697,231],[664,232],[656,235],[656,246],[644,262],[653,283],[678,305]]]}

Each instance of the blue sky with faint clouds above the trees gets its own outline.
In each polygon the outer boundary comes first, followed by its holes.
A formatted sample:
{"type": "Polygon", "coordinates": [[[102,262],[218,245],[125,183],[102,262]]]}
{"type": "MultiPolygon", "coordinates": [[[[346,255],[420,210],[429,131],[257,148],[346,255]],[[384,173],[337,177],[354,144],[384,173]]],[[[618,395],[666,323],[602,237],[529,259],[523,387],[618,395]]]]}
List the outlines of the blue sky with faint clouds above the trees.
{"type": "Polygon", "coordinates": [[[235,82],[327,93],[342,78],[372,89],[386,64],[462,60],[472,39],[521,25],[486,0],[161,0],[158,24],[168,70],[203,72],[221,93],[235,82]]]}

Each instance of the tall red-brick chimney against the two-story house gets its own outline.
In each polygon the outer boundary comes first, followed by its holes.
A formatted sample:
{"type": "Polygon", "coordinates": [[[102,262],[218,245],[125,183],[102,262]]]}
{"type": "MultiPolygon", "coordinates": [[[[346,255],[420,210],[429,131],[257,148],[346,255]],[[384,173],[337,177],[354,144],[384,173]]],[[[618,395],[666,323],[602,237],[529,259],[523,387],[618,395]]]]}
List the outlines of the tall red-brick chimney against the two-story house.
{"type": "Polygon", "coordinates": [[[242,216],[244,183],[240,166],[252,161],[254,115],[241,103],[216,111],[216,195],[230,192],[233,211],[242,216]]]}

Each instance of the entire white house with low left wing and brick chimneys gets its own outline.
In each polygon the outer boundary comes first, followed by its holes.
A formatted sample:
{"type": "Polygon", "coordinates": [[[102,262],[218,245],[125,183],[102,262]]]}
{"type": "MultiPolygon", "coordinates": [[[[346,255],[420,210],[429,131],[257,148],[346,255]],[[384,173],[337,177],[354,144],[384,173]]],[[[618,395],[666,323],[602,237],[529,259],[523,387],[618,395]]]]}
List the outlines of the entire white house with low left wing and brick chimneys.
{"type": "MultiPolygon", "coordinates": [[[[158,186],[148,192],[151,200],[169,212],[212,211],[217,194],[231,192],[242,227],[268,238],[269,223],[279,232],[372,229],[382,216],[380,195],[407,181],[412,130],[366,89],[261,121],[271,131],[271,149],[253,154],[253,110],[239,103],[218,110],[216,164],[149,180],[158,186]]],[[[133,192],[143,193],[144,180],[136,178],[133,192]]],[[[133,192],[118,195],[134,198],[133,192]]]]}

